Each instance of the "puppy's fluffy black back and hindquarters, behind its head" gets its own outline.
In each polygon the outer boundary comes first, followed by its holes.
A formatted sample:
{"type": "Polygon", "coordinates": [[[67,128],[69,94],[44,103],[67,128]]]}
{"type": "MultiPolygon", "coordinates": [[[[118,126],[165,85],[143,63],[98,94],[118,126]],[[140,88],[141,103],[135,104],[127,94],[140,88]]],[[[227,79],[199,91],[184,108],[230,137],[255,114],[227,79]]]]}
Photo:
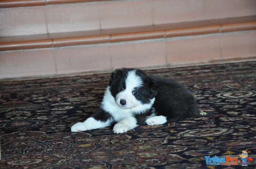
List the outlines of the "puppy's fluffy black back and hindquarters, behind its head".
{"type": "Polygon", "coordinates": [[[154,78],[157,85],[153,107],[157,116],[166,116],[167,123],[186,117],[198,117],[199,109],[192,93],[182,84],[167,78],[154,78]]]}

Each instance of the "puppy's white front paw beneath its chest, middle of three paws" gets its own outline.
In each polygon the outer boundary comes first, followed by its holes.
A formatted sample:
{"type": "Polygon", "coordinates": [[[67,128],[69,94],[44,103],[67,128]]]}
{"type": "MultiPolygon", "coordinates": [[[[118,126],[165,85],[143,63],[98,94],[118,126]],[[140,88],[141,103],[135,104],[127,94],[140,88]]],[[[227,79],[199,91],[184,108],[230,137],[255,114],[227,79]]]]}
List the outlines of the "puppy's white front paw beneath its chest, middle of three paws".
{"type": "Polygon", "coordinates": [[[137,126],[137,120],[135,117],[126,117],[115,124],[113,131],[116,134],[124,133],[128,130],[134,129],[137,126]]]}

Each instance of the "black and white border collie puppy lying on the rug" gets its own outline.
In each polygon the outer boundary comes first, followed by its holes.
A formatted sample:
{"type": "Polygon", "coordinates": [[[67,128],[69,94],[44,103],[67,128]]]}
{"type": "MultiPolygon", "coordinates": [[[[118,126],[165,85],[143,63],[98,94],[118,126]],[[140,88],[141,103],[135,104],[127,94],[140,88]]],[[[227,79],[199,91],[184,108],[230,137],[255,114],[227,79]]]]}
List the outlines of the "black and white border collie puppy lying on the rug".
{"type": "Polygon", "coordinates": [[[124,133],[143,124],[157,125],[198,117],[198,105],[188,89],[167,78],[147,76],[140,69],[116,69],[109,80],[100,109],[72,132],[114,125],[124,133]]]}

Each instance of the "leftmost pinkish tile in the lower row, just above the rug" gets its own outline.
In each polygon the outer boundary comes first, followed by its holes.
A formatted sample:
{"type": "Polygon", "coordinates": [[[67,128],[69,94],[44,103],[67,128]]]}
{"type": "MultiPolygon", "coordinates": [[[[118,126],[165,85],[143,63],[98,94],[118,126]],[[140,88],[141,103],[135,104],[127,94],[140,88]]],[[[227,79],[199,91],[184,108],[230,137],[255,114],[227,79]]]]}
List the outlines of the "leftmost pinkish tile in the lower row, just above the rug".
{"type": "Polygon", "coordinates": [[[53,51],[0,53],[0,78],[55,74],[53,51]]]}

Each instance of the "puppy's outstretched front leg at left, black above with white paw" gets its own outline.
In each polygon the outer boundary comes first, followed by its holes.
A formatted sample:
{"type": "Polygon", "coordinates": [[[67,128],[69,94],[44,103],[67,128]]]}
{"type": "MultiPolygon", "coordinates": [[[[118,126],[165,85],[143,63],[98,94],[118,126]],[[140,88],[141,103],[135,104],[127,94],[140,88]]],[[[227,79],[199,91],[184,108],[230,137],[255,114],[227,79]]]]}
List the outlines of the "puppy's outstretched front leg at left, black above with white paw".
{"type": "Polygon", "coordinates": [[[110,126],[114,122],[113,118],[103,110],[99,110],[83,123],[75,123],[71,127],[71,132],[86,131],[110,126]]]}

